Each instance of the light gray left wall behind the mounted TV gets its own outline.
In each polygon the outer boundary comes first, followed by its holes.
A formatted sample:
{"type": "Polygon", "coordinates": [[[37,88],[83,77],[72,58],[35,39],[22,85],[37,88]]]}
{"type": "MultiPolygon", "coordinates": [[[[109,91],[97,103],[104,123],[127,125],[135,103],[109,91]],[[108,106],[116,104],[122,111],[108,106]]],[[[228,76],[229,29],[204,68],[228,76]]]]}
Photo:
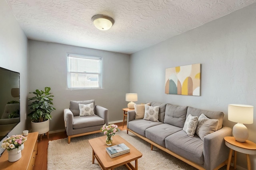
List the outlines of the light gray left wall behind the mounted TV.
{"type": "Polygon", "coordinates": [[[0,21],[0,67],[20,72],[20,123],[10,135],[22,134],[26,129],[28,39],[4,0],[0,1],[0,21]]]}

